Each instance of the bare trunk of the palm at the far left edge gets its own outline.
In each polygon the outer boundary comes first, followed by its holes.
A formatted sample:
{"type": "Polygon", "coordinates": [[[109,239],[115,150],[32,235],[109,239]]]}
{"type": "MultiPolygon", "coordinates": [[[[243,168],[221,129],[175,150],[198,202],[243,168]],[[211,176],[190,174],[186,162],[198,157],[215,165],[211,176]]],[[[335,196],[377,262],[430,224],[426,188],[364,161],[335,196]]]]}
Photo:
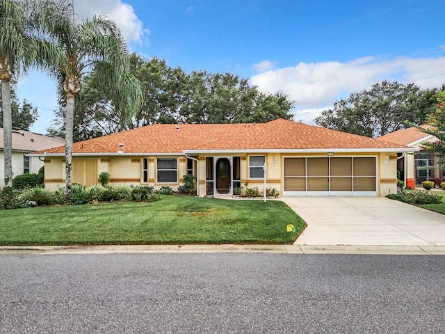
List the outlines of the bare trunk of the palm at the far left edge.
{"type": "Polygon", "coordinates": [[[3,100],[3,154],[5,158],[5,186],[13,186],[13,118],[11,116],[10,81],[1,80],[3,100]]]}

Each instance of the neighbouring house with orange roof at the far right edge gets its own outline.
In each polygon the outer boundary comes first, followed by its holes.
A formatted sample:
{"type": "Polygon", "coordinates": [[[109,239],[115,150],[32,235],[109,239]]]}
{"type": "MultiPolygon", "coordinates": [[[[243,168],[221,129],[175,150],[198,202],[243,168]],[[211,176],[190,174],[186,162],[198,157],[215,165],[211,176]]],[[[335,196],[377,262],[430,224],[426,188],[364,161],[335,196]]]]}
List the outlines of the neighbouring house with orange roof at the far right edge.
{"type": "MultiPolygon", "coordinates": [[[[422,143],[438,140],[435,136],[421,132],[415,127],[391,132],[391,134],[385,134],[377,139],[406,145],[410,148],[421,148],[422,143]]],[[[417,168],[434,167],[438,165],[438,161],[439,158],[435,152],[421,150],[416,154],[399,154],[397,168],[401,171],[401,178],[405,181],[405,186],[411,189],[421,186],[423,181],[432,181],[440,186],[441,182],[445,181],[445,170],[417,168]]]]}

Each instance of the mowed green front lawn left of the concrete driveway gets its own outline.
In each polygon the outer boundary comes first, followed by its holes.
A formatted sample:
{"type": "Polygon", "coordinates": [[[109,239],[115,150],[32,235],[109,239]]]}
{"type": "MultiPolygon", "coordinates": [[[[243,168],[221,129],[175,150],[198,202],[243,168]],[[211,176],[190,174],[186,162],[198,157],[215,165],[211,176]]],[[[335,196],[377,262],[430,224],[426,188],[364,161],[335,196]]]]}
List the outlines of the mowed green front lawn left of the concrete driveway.
{"type": "Polygon", "coordinates": [[[0,211],[0,245],[290,244],[305,222],[284,202],[163,196],[158,202],[0,211]],[[295,226],[287,232],[286,226],[295,226]]]}

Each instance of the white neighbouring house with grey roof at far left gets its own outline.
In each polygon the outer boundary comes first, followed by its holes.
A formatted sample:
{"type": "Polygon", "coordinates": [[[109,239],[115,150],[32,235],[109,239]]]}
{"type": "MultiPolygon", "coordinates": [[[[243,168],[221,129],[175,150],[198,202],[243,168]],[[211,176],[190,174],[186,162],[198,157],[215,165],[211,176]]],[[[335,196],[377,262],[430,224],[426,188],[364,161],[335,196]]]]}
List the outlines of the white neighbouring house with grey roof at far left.
{"type": "MultiPolygon", "coordinates": [[[[43,161],[28,154],[37,150],[64,145],[65,139],[34,134],[24,130],[13,130],[13,176],[24,173],[38,173],[43,161]]],[[[5,186],[5,160],[3,154],[3,129],[0,127],[0,187],[5,186]]]]}

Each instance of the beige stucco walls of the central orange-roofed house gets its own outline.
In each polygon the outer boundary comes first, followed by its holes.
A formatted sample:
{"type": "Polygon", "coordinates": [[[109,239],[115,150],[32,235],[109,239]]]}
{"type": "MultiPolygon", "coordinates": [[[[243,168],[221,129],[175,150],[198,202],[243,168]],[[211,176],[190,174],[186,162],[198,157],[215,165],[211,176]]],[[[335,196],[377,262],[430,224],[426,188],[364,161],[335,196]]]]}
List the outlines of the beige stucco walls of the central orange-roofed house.
{"type": "MultiPolygon", "coordinates": [[[[249,156],[264,155],[266,157],[266,187],[276,189],[282,194],[283,179],[283,159],[284,157],[326,157],[323,153],[313,154],[280,154],[280,153],[261,153],[254,154],[233,154],[235,157],[241,157],[241,186],[248,183],[248,187],[257,186],[261,191],[264,187],[263,179],[249,179],[249,156]]],[[[378,196],[386,196],[388,193],[397,191],[397,154],[396,152],[357,152],[357,153],[335,153],[334,157],[376,157],[377,164],[377,193],[378,196]],[[388,164],[385,164],[385,158],[388,157],[388,164]]],[[[171,156],[178,161],[178,182],[175,184],[156,183],[156,157],[142,156],[112,156],[112,157],[73,157],[73,161],[94,160],[97,168],[95,178],[102,172],[108,172],[111,175],[111,185],[149,185],[160,188],[161,186],[171,186],[173,190],[183,182],[183,175],[187,173],[187,162],[184,156],[171,156]],[[146,158],[148,163],[148,182],[143,183],[142,178],[142,159],[146,158]]],[[[199,192],[200,196],[206,195],[206,157],[231,157],[229,154],[200,154],[199,156],[199,192]]],[[[412,156],[408,156],[412,157],[412,156]]],[[[65,182],[65,158],[47,157],[45,159],[45,184],[51,189],[57,189],[63,186],[65,182]]],[[[414,166],[414,163],[412,164],[414,166]]],[[[197,173],[195,166],[195,173],[197,173]]]]}

